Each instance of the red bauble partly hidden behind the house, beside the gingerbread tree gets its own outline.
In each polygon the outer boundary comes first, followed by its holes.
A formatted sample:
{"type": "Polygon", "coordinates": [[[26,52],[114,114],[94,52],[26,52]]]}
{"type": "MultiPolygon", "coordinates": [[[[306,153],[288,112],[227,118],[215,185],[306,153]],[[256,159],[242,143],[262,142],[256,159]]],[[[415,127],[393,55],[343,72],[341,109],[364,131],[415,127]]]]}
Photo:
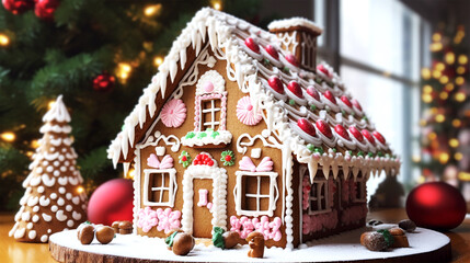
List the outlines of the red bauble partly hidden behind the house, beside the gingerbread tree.
{"type": "Polygon", "coordinates": [[[88,204],[88,220],[111,226],[117,220],[133,220],[133,181],[113,179],[100,185],[88,204]]]}

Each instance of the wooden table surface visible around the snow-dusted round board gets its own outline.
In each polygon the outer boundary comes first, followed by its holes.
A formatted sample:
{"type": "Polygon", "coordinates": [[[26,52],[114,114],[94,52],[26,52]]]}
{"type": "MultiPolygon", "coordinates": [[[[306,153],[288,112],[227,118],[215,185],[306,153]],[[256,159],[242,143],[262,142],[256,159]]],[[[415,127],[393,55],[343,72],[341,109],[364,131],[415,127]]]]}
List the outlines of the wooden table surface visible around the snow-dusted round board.
{"type": "MultiPolygon", "coordinates": [[[[23,262],[56,262],[49,253],[48,244],[45,243],[22,243],[8,237],[8,232],[13,227],[13,214],[0,213],[0,262],[23,263],[23,262]]],[[[406,218],[403,208],[385,209],[371,211],[368,218],[379,219],[385,222],[398,222],[406,218]]],[[[470,217],[458,228],[445,232],[451,240],[452,262],[470,262],[470,217]]]]}

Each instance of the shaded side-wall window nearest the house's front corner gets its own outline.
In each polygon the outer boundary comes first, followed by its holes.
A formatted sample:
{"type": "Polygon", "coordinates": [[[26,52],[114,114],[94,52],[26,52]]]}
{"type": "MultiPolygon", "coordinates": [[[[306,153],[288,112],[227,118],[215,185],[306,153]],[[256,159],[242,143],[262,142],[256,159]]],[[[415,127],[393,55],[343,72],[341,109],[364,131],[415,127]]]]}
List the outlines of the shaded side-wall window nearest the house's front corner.
{"type": "Polygon", "coordinates": [[[330,211],[328,180],[316,179],[309,193],[309,215],[330,211]]]}

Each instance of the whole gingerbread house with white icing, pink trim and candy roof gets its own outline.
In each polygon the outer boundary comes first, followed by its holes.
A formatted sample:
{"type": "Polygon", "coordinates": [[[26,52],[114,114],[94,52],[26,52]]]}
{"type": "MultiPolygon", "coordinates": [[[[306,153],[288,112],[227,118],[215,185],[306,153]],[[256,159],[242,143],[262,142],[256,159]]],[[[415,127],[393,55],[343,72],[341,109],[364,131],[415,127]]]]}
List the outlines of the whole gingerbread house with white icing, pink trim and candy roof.
{"type": "Polygon", "coordinates": [[[322,30],[268,27],[203,9],[173,43],[108,148],[136,171],[137,235],[220,227],[295,248],[364,226],[369,174],[398,173],[340,77],[316,65],[322,30]]]}

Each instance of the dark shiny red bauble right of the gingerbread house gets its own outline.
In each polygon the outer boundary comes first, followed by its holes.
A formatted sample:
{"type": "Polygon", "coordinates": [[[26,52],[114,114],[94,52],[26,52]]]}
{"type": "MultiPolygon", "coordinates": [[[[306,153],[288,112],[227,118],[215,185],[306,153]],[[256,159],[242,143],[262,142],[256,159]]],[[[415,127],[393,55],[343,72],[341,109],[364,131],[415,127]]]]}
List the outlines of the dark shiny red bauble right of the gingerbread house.
{"type": "Polygon", "coordinates": [[[458,227],[467,213],[460,192],[443,182],[424,183],[406,198],[406,214],[417,226],[437,230],[458,227]]]}

